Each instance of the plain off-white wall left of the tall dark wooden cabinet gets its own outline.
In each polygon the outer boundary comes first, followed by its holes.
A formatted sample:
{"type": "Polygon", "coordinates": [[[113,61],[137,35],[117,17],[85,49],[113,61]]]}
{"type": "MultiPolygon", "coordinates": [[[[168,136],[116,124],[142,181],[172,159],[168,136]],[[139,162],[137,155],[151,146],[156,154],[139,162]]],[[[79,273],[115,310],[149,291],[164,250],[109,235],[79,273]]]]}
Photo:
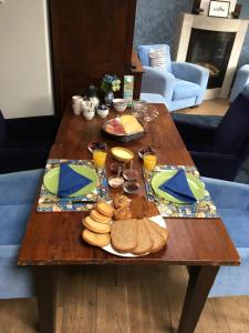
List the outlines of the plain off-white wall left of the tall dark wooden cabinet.
{"type": "Polygon", "coordinates": [[[46,0],[0,3],[0,109],[6,118],[53,113],[46,0]]]}

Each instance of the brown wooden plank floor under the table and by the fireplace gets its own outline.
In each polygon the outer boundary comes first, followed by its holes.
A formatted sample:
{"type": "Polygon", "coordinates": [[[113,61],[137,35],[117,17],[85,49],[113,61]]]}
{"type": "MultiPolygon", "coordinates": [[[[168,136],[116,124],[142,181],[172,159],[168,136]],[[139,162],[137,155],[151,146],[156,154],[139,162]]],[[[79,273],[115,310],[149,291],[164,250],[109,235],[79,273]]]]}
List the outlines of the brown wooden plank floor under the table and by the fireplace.
{"type": "MultiPolygon", "coordinates": [[[[227,100],[180,112],[222,115],[227,100]]],[[[186,291],[181,266],[61,269],[58,333],[174,333],[186,291]]],[[[207,301],[196,333],[249,333],[249,296],[207,301]]],[[[37,333],[34,300],[0,301],[0,333],[37,333]]]]}

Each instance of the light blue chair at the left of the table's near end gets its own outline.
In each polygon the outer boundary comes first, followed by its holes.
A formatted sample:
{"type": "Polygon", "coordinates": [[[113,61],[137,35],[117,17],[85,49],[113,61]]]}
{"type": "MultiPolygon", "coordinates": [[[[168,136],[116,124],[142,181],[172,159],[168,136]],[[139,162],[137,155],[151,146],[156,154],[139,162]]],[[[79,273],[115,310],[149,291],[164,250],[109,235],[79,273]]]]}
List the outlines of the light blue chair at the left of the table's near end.
{"type": "Polygon", "coordinates": [[[31,271],[18,266],[18,252],[42,174],[40,169],[0,175],[0,299],[34,296],[31,271]]]}

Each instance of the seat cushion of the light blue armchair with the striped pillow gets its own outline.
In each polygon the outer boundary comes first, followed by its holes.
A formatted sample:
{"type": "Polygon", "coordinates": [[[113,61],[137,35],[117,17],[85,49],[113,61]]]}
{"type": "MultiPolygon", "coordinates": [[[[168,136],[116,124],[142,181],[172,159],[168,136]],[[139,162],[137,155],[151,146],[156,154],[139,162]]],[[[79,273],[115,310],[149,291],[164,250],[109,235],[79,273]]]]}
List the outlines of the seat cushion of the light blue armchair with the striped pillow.
{"type": "Polygon", "coordinates": [[[199,91],[200,91],[199,84],[176,79],[176,83],[173,92],[173,100],[177,101],[177,100],[197,97],[199,94],[199,91]]]}

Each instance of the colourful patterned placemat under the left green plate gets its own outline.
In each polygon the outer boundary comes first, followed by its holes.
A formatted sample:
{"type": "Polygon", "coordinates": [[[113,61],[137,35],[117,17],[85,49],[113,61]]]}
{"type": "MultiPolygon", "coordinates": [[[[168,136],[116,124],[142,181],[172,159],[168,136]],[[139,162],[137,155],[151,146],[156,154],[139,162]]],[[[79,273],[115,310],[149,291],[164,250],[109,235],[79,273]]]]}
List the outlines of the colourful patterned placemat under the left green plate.
{"type": "MultiPolygon", "coordinates": [[[[85,165],[94,168],[91,161],[86,160],[48,160],[45,165],[45,173],[55,167],[60,167],[60,163],[71,163],[77,165],[85,165]]],[[[95,170],[95,169],[94,169],[95,170]]],[[[45,174],[44,173],[44,174],[45,174]]],[[[98,182],[96,189],[86,195],[74,198],[60,198],[50,193],[42,183],[40,198],[38,201],[38,212],[79,212],[91,210],[98,198],[107,200],[108,186],[106,180],[105,170],[97,172],[98,182]]]]}

